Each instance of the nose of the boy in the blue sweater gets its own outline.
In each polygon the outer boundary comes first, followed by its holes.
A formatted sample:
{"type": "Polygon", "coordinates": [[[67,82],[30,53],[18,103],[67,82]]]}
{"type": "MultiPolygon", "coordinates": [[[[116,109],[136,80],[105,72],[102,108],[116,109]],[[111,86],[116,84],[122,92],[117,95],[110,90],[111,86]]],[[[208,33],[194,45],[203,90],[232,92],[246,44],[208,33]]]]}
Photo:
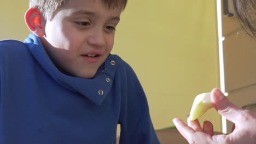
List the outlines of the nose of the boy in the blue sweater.
{"type": "Polygon", "coordinates": [[[103,47],[106,45],[106,38],[104,32],[101,31],[94,31],[88,37],[88,44],[94,47],[103,47]]]}

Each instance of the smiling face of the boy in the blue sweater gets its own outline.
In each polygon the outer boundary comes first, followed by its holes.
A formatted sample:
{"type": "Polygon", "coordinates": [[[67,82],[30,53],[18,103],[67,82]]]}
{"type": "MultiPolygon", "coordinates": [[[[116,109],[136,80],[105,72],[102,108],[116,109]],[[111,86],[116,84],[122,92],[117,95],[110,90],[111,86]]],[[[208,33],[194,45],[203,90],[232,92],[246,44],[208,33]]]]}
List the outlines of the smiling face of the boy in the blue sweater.
{"type": "Polygon", "coordinates": [[[102,0],[69,0],[53,20],[45,20],[40,38],[63,73],[92,78],[114,44],[121,6],[109,9],[102,0]]]}

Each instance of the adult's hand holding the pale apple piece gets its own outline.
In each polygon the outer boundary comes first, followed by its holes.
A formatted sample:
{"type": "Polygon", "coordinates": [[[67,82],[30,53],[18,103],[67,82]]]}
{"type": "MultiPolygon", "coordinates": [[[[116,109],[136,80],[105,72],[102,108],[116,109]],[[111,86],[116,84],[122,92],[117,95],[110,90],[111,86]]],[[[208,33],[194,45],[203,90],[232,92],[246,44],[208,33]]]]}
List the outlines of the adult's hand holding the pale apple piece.
{"type": "Polygon", "coordinates": [[[189,143],[256,143],[256,113],[232,104],[218,88],[212,90],[211,100],[220,115],[235,124],[235,129],[228,135],[213,135],[211,122],[205,121],[201,128],[197,119],[185,124],[174,118],[174,125],[189,143]]]}

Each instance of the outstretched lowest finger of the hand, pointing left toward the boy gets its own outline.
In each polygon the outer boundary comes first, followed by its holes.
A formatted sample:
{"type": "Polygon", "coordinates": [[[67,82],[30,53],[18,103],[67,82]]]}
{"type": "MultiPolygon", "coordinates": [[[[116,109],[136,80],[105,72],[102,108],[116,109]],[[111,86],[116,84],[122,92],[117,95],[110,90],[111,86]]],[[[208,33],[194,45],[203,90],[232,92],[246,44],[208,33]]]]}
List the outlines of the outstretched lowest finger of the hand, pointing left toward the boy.
{"type": "Polygon", "coordinates": [[[185,139],[187,139],[189,141],[191,139],[191,136],[193,136],[193,134],[195,133],[195,130],[188,127],[188,125],[185,124],[182,121],[182,119],[174,118],[174,119],[172,119],[172,122],[178,129],[179,133],[181,133],[182,136],[185,137],[185,139]]]}

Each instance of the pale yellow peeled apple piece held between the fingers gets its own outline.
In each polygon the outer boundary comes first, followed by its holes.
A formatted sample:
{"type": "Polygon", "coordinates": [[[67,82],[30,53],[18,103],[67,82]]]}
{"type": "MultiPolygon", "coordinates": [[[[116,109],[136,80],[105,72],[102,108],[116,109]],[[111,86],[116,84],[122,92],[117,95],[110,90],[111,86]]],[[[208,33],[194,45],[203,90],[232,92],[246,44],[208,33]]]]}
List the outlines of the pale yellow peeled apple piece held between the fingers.
{"type": "Polygon", "coordinates": [[[189,121],[194,121],[199,118],[212,107],[214,106],[211,100],[211,93],[202,93],[197,95],[190,111],[189,121]]]}

